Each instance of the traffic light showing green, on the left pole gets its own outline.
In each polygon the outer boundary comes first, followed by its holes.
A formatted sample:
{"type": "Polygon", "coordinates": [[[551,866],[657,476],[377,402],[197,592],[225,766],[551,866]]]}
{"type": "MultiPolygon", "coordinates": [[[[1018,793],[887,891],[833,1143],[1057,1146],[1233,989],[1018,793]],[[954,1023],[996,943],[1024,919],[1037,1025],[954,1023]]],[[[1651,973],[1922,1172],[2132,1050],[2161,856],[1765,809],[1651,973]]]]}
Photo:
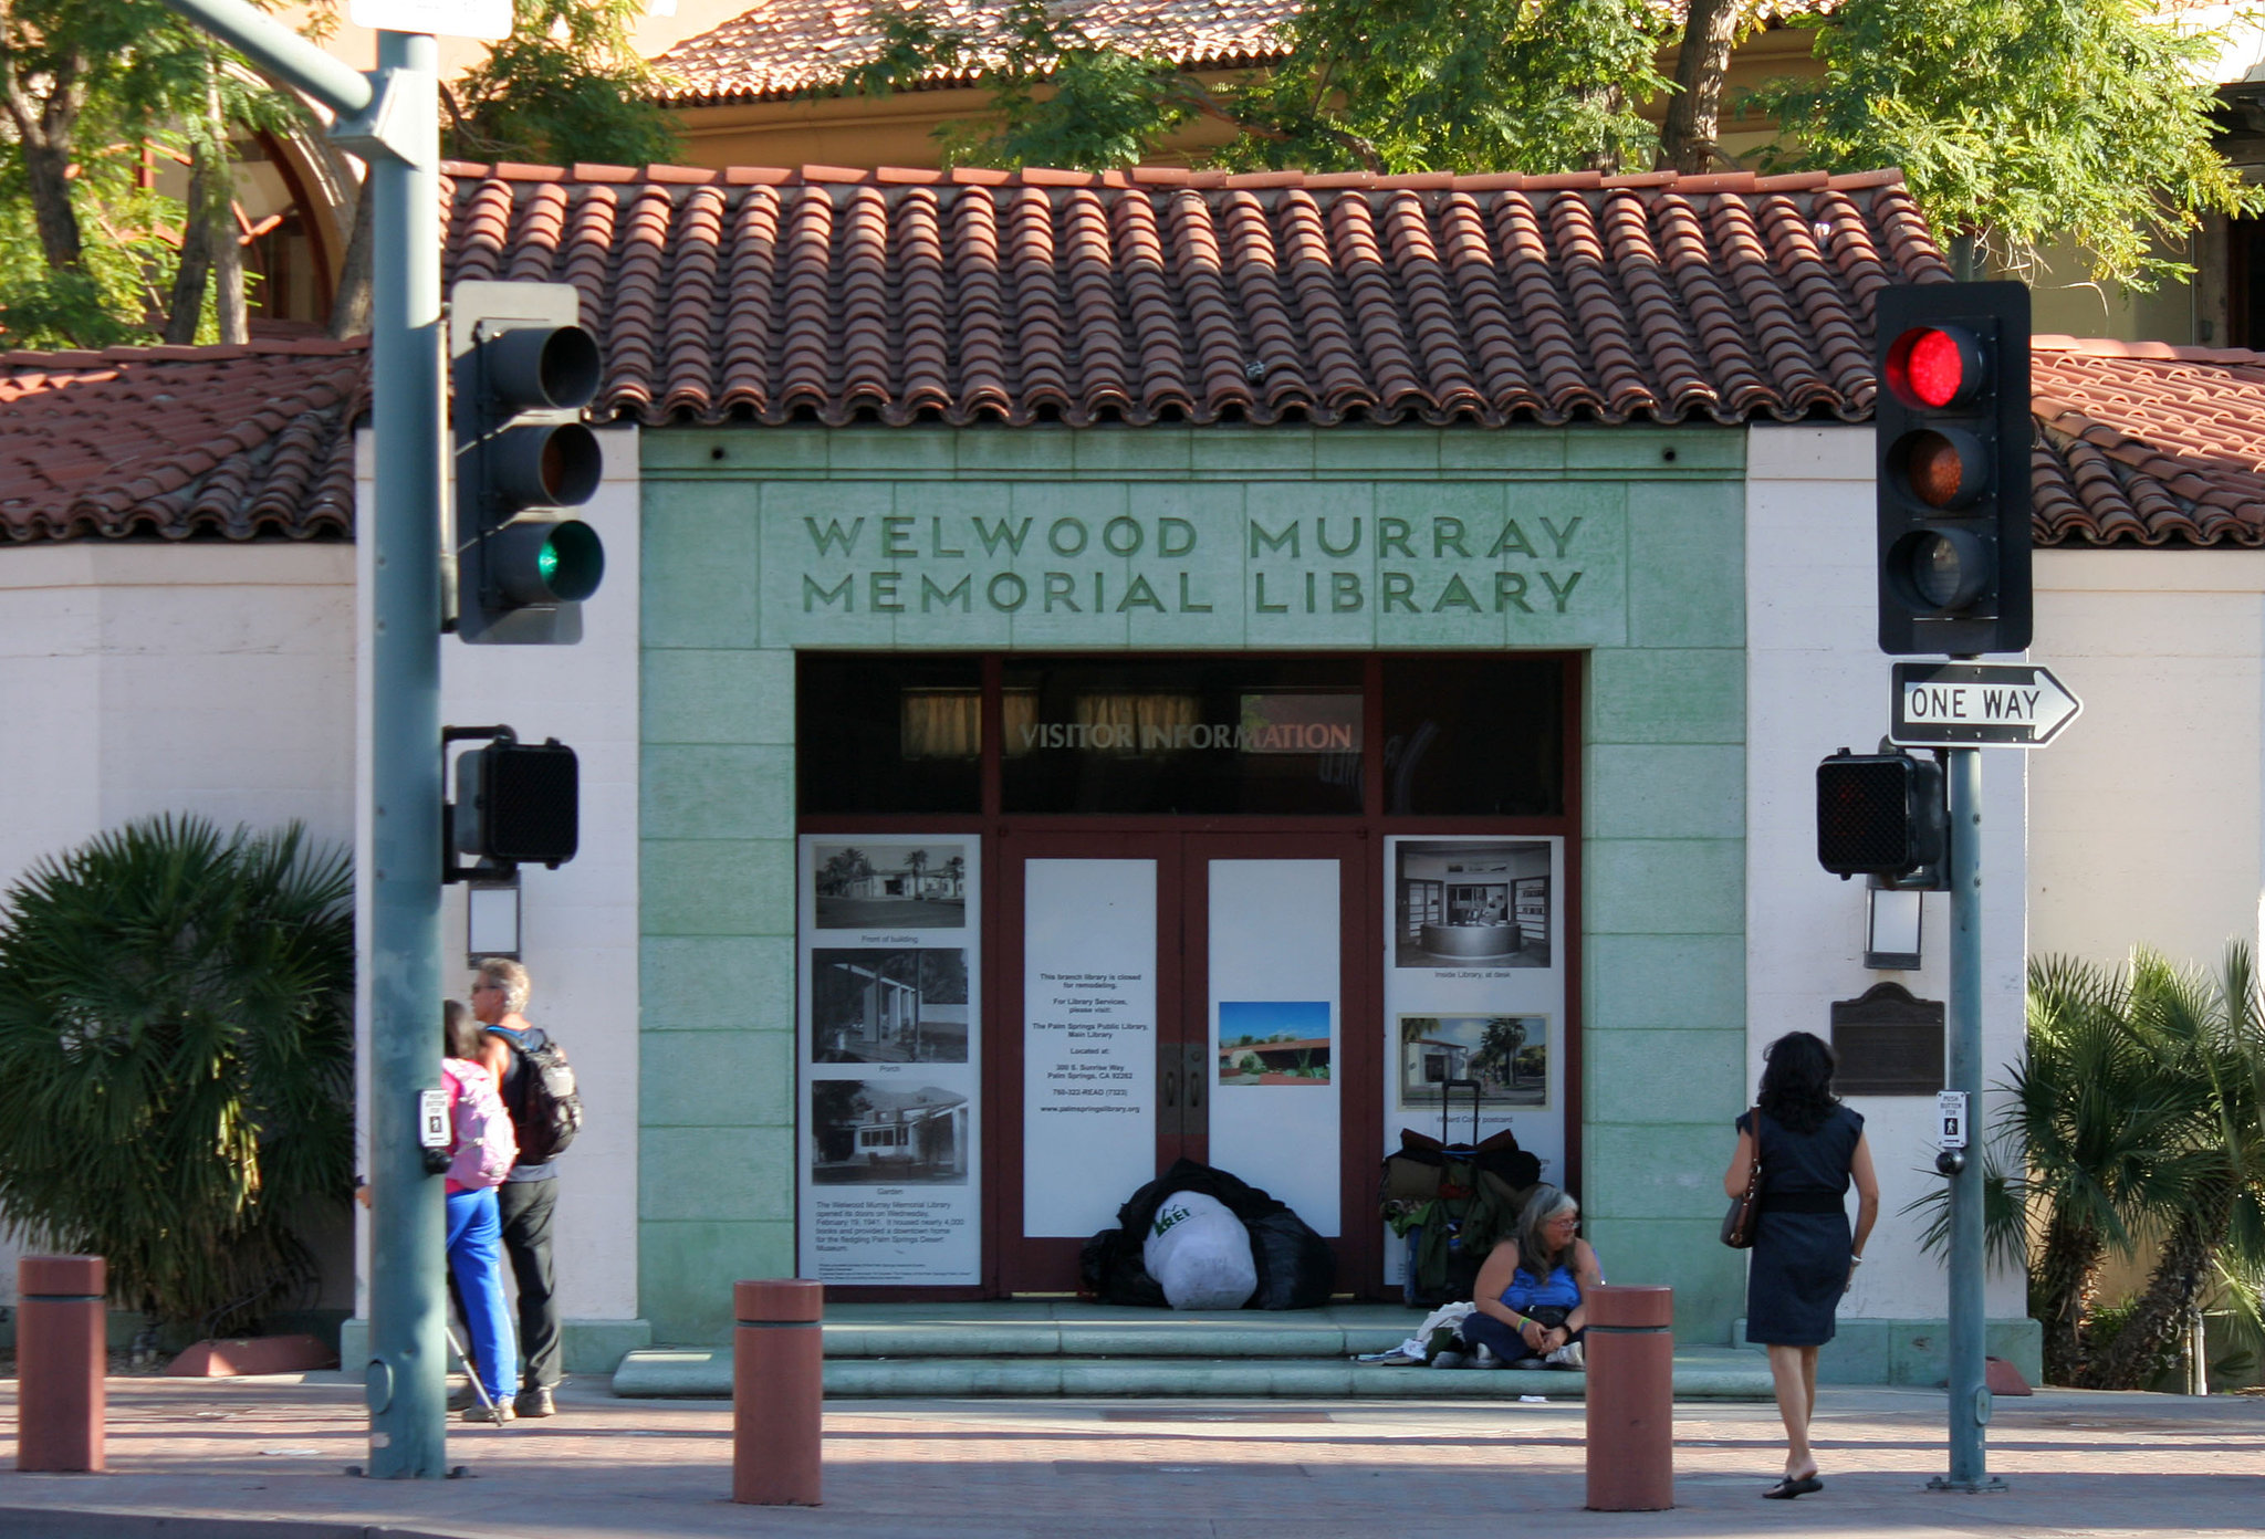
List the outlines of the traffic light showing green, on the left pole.
{"type": "Polygon", "coordinates": [[[605,543],[569,509],[598,493],[605,455],[582,423],[598,342],[571,283],[458,283],[448,294],[455,425],[455,634],[473,643],[582,640],[605,543]]]}

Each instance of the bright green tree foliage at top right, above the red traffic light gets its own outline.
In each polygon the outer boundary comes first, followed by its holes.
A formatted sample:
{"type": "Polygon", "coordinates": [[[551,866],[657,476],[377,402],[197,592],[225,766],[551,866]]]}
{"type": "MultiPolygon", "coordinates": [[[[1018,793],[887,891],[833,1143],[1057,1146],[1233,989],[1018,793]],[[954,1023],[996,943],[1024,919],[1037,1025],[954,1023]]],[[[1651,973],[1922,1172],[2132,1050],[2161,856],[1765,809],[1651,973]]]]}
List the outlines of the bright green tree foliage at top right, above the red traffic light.
{"type": "Polygon", "coordinates": [[[1755,93],[1769,167],[1900,165],[1943,240],[2014,269],[2068,238],[2102,283],[2147,287],[2206,213],[2258,208],[2211,143],[2211,36],[2149,0],[1846,0],[1821,79],[1755,93]]]}

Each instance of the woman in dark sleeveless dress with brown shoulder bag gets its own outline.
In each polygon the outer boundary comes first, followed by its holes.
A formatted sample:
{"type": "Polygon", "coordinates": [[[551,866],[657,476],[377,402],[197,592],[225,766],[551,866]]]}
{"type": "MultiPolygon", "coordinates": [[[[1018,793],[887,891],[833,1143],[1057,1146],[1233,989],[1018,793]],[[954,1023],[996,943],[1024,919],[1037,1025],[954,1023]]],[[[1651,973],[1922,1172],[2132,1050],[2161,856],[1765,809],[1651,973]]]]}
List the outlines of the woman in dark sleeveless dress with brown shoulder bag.
{"type": "Polygon", "coordinates": [[[1762,1152],[1762,1202],[1746,1270],[1746,1340],[1769,1347],[1769,1376],[1785,1419],[1785,1478],[1769,1498],[1821,1491],[1810,1453],[1817,1412],[1817,1349],[1832,1340],[1832,1313],[1864,1265],[1864,1240],[1880,1218],[1880,1181],[1871,1172],[1864,1118],[1832,1095],[1832,1048],[1810,1032],[1787,1032],[1762,1052],[1755,1114],[1737,1118],[1737,1152],[1721,1188],[1746,1195],[1755,1138],[1762,1152]],[[1855,1181],[1855,1236],[1848,1233],[1848,1184],[1855,1181]]]}

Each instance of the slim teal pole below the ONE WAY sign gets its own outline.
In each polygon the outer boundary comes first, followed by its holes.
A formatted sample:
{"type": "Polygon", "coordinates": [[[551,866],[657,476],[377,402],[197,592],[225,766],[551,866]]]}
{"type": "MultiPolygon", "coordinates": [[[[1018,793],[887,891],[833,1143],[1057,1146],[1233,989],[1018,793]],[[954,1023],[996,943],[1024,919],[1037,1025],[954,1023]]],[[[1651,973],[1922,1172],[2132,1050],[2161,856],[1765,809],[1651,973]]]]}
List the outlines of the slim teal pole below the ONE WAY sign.
{"type": "Polygon", "coordinates": [[[1984,1365],[1982,1159],[1982,749],[1946,749],[1950,794],[1950,1089],[1966,1098],[1966,1157],[1950,1172],[1950,1476],[1937,1491],[2002,1491],[1982,1428],[1984,1365]]]}

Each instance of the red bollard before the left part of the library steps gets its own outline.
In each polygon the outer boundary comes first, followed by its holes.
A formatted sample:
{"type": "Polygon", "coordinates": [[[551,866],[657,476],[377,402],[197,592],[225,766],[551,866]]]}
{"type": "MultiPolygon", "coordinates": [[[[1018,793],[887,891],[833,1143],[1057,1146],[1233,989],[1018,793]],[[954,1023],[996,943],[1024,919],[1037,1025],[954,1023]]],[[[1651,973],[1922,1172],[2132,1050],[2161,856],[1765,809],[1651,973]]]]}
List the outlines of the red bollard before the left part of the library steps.
{"type": "Polygon", "coordinates": [[[732,1283],[732,1501],[815,1507],[824,1283],[732,1283]]]}

